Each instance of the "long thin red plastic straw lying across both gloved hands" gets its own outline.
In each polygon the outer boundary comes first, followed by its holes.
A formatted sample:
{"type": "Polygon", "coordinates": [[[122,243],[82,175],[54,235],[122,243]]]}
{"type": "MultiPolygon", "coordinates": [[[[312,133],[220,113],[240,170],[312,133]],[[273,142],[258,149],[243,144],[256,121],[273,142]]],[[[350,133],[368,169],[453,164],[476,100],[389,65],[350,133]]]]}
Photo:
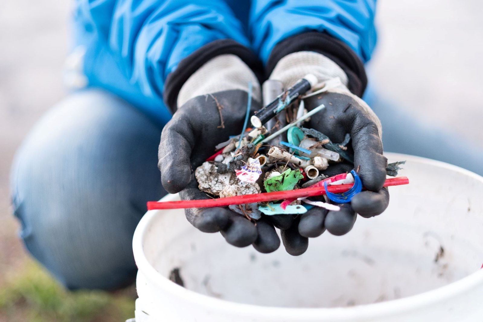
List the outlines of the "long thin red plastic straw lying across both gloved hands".
{"type": "MultiPolygon", "coordinates": [[[[387,179],[384,182],[384,187],[393,185],[408,184],[408,177],[398,177],[387,179]]],[[[338,184],[328,186],[327,190],[334,194],[339,194],[349,190],[353,184],[338,184]]],[[[243,195],[216,199],[197,199],[197,200],[181,200],[181,201],[148,201],[148,210],[155,209],[182,209],[182,208],[211,208],[211,207],[225,207],[229,205],[241,205],[252,202],[266,202],[273,200],[281,200],[287,198],[300,198],[325,195],[324,187],[309,187],[305,189],[287,190],[266,192],[254,195],[243,195]]]]}

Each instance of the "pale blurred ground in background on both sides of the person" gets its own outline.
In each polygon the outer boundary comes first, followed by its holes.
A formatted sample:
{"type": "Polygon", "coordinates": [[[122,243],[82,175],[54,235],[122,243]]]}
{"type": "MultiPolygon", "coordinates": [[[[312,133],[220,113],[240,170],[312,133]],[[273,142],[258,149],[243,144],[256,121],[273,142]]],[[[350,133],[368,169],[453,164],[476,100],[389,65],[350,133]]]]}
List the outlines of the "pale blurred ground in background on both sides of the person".
{"type": "MultiPolygon", "coordinates": [[[[69,4],[0,2],[0,284],[25,256],[9,209],[9,168],[28,129],[65,95],[69,4]]],[[[478,0],[380,1],[379,45],[369,65],[385,98],[475,142],[483,139],[482,9],[478,0]]]]}

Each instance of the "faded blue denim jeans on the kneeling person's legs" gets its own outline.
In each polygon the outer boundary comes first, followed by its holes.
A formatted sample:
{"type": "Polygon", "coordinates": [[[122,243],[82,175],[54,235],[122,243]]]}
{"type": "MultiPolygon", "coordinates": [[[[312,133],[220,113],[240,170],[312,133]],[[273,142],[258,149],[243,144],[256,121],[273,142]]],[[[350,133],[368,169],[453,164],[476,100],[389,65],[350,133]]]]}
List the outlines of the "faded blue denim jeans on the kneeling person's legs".
{"type": "MultiPolygon", "coordinates": [[[[456,145],[447,132],[418,124],[370,93],[386,150],[483,173],[481,151],[456,145]]],[[[11,182],[20,236],[66,287],[115,289],[133,281],[134,229],[146,201],[166,193],[157,169],[161,128],[125,101],[85,90],[48,112],[18,151],[11,182]]]]}

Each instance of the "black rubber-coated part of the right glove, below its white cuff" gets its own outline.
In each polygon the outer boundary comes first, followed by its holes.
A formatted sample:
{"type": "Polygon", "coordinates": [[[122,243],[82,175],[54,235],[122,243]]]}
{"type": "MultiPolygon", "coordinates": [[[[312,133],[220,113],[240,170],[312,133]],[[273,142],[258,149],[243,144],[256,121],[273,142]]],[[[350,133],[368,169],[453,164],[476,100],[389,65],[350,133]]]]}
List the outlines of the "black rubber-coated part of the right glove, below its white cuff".
{"type": "Polygon", "coordinates": [[[333,176],[354,168],[368,190],[355,195],[352,202],[339,205],[340,211],[318,207],[307,211],[300,218],[298,232],[304,237],[318,237],[327,229],[333,235],[344,235],[352,229],[356,213],[373,217],[389,204],[388,190],[383,188],[387,159],[383,155],[380,122],[365,102],[343,92],[316,95],[304,102],[308,110],[321,104],[326,106],[312,116],[307,127],[324,133],[334,143],[342,142],[346,133],[351,135],[349,149],[354,152],[354,165],[342,162],[322,172],[333,176]]]}

